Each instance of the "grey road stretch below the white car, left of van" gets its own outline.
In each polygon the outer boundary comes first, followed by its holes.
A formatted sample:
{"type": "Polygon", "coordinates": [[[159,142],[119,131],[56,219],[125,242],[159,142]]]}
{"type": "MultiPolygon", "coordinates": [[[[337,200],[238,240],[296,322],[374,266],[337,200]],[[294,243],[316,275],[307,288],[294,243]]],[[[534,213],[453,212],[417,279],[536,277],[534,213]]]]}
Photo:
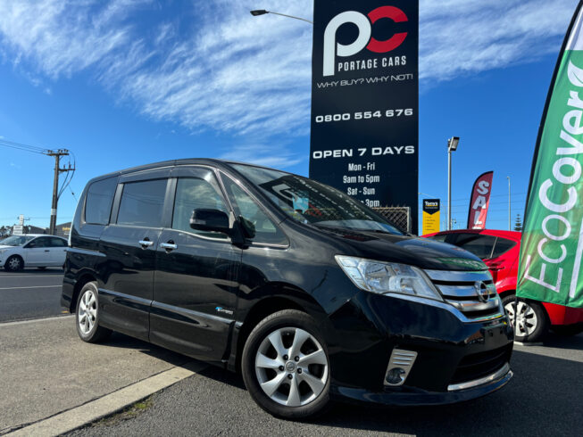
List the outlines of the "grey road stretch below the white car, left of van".
{"type": "Polygon", "coordinates": [[[0,322],[59,316],[62,268],[0,270],[0,322]]]}

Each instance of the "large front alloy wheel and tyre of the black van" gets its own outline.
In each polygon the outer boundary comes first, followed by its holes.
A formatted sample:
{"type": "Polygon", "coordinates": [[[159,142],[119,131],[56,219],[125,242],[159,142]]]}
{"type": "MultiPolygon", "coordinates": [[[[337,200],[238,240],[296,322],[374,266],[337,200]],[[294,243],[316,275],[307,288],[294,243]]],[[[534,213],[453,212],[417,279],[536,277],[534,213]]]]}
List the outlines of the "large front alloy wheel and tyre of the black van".
{"type": "Polygon", "coordinates": [[[255,326],[241,369],[251,397],[272,416],[306,419],[329,408],[328,349],[314,319],[302,311],[284,309],[255,326]]]}

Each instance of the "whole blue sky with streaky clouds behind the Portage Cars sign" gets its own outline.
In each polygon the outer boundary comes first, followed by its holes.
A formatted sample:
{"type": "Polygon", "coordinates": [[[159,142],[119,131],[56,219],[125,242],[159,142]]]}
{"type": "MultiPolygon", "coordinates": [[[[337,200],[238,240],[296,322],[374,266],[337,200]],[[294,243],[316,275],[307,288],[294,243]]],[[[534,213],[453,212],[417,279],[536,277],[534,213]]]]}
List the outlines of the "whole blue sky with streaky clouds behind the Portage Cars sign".
{"type": "MultiPolygon", "coordinates": [[[[522,213],[546,92],[577,0],[421,0],[420,191],[453,217],[494,170],[487,227],[522,213]]],[[[0,0],[0,137],[68,148],[91,177],[187,157],[307,175],[312,1],[0,0]]],[[[54,161],[0,146],[0,225],[47,226],[54,161]]],[[[423,195],[420,195],[420,202],[423,195]]],[[[59,223],[74,212],[71,191],[59,223]]],[[[421,222],[420,222],[421,223],[421,222]]]]}

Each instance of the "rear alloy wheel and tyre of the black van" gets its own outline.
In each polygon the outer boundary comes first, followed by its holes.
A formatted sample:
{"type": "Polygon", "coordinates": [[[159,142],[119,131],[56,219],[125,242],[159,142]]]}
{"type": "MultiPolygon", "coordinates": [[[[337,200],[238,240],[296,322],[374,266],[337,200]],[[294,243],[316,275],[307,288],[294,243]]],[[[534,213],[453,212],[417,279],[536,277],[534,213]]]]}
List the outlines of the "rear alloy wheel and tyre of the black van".
{"type": "Polygon", "coordinates": [[[103,342],[112,334],[110,329],[99,326],[99,295],[97,283],[88,282],[83,285],[77,300],[75,326],[77,334],[83,342],[103,342]]]}

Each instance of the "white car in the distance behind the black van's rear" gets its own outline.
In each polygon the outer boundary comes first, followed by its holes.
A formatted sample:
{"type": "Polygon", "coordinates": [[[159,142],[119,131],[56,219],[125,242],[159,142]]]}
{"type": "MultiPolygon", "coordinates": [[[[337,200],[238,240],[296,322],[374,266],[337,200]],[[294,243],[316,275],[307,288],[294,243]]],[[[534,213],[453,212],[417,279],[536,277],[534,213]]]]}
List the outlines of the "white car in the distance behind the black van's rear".
{"type": "Polygon", "coordinates": [[[67,240],[54,235],[9,236],[0,240],[0,268],[17,271],[25,267],[62,267],[67,245],[67,240]]]}

